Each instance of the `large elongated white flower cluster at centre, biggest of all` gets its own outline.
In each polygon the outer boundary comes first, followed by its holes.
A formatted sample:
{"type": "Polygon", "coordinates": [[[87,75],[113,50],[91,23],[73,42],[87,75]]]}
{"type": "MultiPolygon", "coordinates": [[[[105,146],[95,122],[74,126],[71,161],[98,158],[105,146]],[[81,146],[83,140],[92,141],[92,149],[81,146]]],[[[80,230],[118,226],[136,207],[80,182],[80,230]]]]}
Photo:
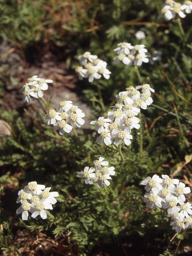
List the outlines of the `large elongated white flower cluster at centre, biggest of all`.
{"type": "Polygon", "coordinates": [[[125,145],[131,144],[132,128],[140,128],[140,119],[136,117],[140,112],[140,108],[146,109],[153,100],[150,97],[151,92],[155,92],[149,84],[130,86],[126,91],[119,92],[116,97],[118,103],[112,106],[112,110],[108,112],[108,117],[104,119],[99,117],[97,121],[92,121],[90,124],[95,124],[95,130],[100,134],[96,142],[104,143],[108,146],[114,144],[118,146],[122,140],[125,145]],[[138,89],[142,89],[140,94],[138,89]]]}

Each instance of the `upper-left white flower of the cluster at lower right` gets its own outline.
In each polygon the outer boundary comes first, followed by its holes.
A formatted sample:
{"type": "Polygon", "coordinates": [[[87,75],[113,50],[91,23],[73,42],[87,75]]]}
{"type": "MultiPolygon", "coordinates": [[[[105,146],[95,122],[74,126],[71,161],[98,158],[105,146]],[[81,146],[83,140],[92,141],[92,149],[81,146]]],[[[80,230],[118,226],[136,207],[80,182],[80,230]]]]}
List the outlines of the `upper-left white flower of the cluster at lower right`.
{"type": "Polygon", "coordinates": [[[158,175],[153,175],[153,177],[147,177],[145,180],[141,182],[141,185],[145,185],[145,189],[147,192],[150,190],[153,194],[157,195],[160,190],[162,190],[162,179],[158,175]]]}

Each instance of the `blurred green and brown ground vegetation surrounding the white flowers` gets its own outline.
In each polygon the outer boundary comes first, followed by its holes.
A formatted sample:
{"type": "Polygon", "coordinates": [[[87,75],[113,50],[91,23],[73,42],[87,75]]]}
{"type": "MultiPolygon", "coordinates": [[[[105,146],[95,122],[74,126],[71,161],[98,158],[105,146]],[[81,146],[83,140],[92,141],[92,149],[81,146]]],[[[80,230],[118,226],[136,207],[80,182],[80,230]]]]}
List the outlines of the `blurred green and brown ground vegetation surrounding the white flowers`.
{"type": "MultiPolygon", "coordinates": [[[[170,219],[165,212],[146,208],[140,185],[147,176],[179,170],[175,177],[192,188],[191,162],[186,161],[192,154],[191,14],[181,20],[182,30],[177,18],[157,20],[162,4],[0,0],[0,114],[10,131],[0,137],[2,255],[174,253],[179,240],[171,240],[175,232],[170,219]],[[138,30],[145,39],[135,37],[138,30]],[[118,92],[140,84],[133,67],[113,64],[113,49],[123,41],[145,44],[148,54],[161,52],[160,61],[139,67],[143,83],[155,89],[154,104],[142,110],[141,134],[134,130],[132,144],[123,148],[125,164],[115,146],[96,144],[91,127],[79,131],[79,141],[54,133],[36,102],[22,102],[21,90],[29,76],[41,74],[55,81],[48,89],[52,94],[66,88],[75,92],[91,109],[92,120],[106,116],[118,92]],[[77,57],[85,51],[107,61],[112,72],[108,81],[100,80],[106,113],[98,105],[94,82],[76,78],[77,57]],[[99,156],[116,168],[107,191],[86,186],[77,177],[99,156]],[[24,222],[16,214],[17,193],[34,180],[60,196],[50,220],[24,222]]],[[[191,255],[191,230],[184,238],[178,255],[191,255]]]]}

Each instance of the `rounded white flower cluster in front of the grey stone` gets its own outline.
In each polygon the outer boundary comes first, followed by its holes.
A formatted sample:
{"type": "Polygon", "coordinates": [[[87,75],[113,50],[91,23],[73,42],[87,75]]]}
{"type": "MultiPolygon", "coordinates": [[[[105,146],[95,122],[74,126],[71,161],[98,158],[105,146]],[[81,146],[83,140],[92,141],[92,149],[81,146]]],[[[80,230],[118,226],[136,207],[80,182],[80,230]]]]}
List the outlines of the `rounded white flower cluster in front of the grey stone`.
{"type": "Polygon", "coordinates": [[[46,115],[47,124],[53,124],[54,130],[59,130],[60,135],[71,132],[75,126],[81,127],[85,122],[82,119],[85,114],[72,103],[71,100],[60,101],[58,110],[51,108],[49,114],[46,115]]]}

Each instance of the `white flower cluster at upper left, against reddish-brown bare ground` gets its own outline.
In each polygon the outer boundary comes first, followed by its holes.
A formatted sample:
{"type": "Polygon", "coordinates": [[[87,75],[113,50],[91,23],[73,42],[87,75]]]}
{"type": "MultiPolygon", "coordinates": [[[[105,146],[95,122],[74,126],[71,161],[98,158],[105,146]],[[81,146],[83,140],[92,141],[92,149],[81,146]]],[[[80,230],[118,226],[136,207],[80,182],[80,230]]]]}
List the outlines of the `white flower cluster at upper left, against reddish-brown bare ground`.
{"type": "Polygon", "coordinates": [[[53,81],[51,79],[42,79],[37,76],[29,77],[27,80],[27,83],[23,85],[23,101],[30,102],[31,98],[30,96],[34,98],[41,98],[43,97],[44,93],[43,91],[48,89],[47,83],[52,83],[53,81]]]}

